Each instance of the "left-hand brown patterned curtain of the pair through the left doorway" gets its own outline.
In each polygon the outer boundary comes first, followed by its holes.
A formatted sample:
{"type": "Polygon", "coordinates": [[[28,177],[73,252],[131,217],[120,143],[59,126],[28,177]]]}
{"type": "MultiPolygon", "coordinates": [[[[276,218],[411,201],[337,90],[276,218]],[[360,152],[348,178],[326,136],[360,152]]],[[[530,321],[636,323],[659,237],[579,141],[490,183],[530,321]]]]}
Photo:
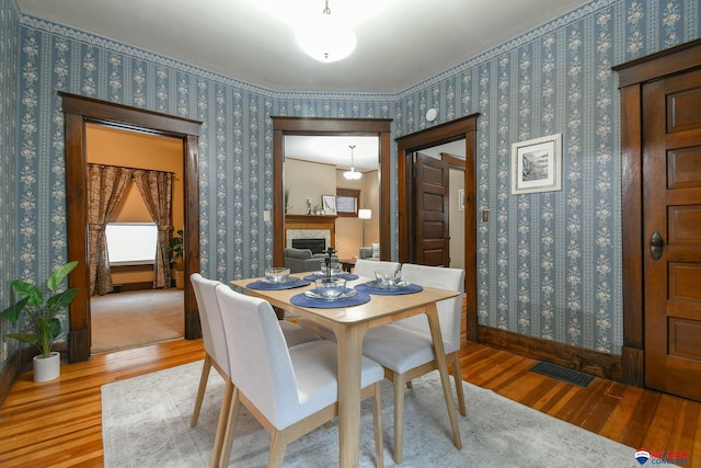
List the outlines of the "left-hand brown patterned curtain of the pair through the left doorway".
{"type": "Polygon", "coordinates": [[[122,199],[131,169],[88,164],[88,248],[90,294],[103,296],[113,289],[105,226],[122,199]]]}

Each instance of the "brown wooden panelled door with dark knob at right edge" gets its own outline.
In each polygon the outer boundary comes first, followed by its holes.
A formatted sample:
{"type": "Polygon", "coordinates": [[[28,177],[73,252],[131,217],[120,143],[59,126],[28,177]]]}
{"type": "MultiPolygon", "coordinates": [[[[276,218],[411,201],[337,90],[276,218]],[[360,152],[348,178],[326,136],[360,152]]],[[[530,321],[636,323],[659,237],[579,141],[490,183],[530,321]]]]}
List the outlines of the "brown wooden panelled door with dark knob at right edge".
{"type": "Polygon", "coordinates": [[[645,385],[701,400],[701,70],[643,89],[645,385]]]}

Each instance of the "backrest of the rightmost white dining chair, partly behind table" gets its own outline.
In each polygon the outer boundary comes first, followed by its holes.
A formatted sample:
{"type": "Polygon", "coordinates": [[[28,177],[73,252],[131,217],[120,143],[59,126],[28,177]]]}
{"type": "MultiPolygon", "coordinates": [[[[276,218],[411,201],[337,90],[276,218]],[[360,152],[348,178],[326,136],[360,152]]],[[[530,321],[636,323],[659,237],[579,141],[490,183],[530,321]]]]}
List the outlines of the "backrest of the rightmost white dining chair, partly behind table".
{"type": "MultiPolygon", "coordinates": [[[[464,270],[448,269],[445,266],[415,265],[404,263],[402,265],[402,279],[420,284],[426,287],[457,290],[464,293],[464,270]]],[[[444,342],[447,342],[446,352],[451,353],[460,349],[460,321],[462,319],[462,294],[457,297],[439,301],[438,318],[444,342]]],[[[430,333],[428,320],[423,313],[401,320],[401,323],[424,333],[430,333]]]]}

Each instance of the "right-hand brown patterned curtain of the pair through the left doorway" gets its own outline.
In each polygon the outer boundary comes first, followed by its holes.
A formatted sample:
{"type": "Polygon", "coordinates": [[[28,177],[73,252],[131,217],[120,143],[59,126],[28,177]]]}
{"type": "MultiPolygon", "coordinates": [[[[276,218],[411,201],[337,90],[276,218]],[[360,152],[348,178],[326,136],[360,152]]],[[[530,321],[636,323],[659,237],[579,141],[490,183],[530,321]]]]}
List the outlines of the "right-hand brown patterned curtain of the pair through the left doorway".
{"type": "Polygon", "coordinates": [[[170,240],[171,231],[171,198],[173,191],[173,174],[161,171],[134,171],[134,182],[139,187],[146,206],[158,226],[158,241],[156,247],[156,263],[153,265],[153,287],[170,287],[170,240]]]}

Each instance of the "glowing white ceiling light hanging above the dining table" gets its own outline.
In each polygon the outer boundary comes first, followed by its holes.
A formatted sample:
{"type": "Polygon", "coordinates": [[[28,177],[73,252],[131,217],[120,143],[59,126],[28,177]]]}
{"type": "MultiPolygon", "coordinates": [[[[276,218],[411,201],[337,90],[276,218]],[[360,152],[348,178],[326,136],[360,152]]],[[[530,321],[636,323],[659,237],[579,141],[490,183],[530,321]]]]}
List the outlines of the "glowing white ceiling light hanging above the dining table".
{"type": "Polygon", "coordinates": [[[350,27],[331,18],[329,0],[321,18],[297,27],[297,44],[312,58],[332,62],[346,58],[355,49],[356,37],[350,27]]]}

